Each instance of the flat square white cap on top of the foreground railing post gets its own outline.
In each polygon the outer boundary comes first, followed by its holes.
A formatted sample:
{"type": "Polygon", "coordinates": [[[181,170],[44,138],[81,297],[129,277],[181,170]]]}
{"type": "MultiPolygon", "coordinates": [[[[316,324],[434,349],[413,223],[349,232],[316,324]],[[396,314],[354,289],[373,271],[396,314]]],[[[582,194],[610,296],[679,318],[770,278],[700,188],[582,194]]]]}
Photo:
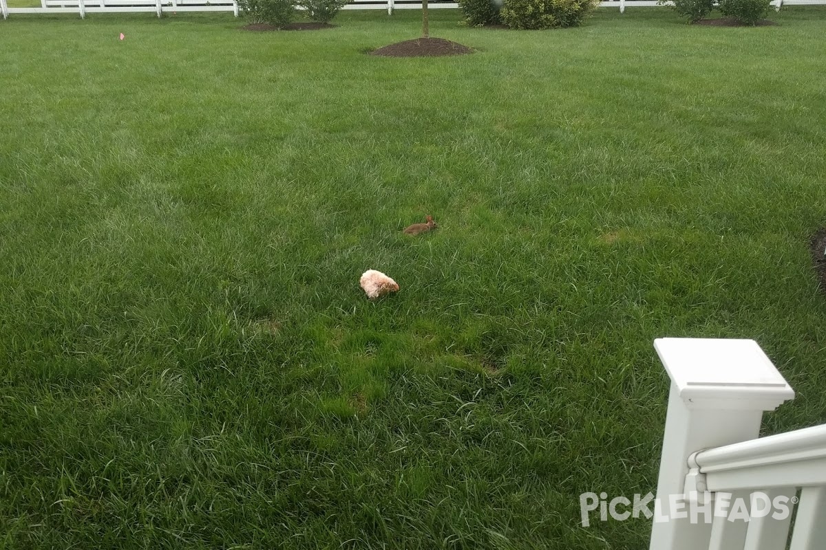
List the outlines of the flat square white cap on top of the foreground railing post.
{"type": "Polygon", "coordinates": [[[657,338],[654,349],[688,407],[773,411],[795,397],[756,341],[657,338]]]}

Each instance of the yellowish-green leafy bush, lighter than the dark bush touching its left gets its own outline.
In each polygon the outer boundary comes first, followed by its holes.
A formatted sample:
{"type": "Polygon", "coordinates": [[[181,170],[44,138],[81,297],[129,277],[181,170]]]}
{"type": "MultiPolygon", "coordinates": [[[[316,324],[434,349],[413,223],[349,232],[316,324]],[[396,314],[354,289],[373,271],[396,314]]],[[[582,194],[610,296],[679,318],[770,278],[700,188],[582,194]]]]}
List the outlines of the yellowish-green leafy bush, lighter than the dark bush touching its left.
{"type": "Polygon", "coordinates": [[[554,29],[579,26],[596,0],[505,0],[502,22],[511,29],[554,29]]]}

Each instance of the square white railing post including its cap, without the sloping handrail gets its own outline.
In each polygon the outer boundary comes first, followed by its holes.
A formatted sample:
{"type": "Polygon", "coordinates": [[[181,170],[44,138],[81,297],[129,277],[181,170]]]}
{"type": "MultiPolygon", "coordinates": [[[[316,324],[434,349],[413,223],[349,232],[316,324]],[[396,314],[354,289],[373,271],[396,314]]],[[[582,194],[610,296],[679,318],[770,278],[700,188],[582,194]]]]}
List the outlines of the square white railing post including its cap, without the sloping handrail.
{"type": "Polygon", "coordinates": [[[658,338],[654,348],[672,383],[657,481],[660,520],[655,511],[649,548],[709,548],[711,524],[702,515],[692,524],[686,514],[689,455],[757,438],[763,411],[795,392],[753,340],[658,338]]]}

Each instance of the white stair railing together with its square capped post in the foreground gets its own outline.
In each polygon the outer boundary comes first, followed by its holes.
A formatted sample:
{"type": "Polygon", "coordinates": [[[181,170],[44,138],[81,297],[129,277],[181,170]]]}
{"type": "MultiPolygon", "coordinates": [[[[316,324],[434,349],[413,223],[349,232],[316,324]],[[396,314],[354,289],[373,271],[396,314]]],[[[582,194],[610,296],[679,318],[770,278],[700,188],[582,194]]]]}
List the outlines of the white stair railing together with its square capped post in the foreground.
{"type": "Polygon", "coordinates": [[[795,393],[757,342],[654,347],[672,385],[650,550],[824,550],[826,425],[758,437],[795,393]]]}

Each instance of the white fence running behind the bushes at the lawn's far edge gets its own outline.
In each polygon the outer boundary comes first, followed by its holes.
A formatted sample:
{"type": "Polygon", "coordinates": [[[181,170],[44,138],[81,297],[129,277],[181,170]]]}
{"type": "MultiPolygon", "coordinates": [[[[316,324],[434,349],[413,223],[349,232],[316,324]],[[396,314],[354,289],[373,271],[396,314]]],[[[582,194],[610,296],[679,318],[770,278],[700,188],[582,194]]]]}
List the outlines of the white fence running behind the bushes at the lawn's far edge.
{"type": "MultiPolygon", "coordinates": [[[[804,4],[826,4],[826,0],[772,0],[771,5],[783,6],[804,4]]],[[[657,0],[606,0],[600,7],[619,8],[657,6],[657,0]]],[[[434,0],[428,2],[431,9],[457,8],[456,2],[434,0]]],[[[354,0],[345,10],[418,10],[420,0],[354,0]]],[[[78,13],[81,18],[87,13],[154,12],[162,16],[164,12],[233,12],[239,14],[237,0],[40,0],[40,7],[8,7],[7,0],[0,0],[3,19],[15,13],[78,13]]]]}

